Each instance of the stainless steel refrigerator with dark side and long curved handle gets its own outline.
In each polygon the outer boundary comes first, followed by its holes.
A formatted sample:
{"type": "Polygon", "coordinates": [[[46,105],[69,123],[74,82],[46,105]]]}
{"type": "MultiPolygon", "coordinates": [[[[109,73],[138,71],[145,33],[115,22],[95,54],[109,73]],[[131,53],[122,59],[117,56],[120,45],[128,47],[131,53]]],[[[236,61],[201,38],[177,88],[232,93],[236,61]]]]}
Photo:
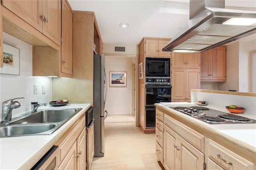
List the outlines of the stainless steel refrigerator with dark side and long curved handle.
{"type": "Polygon", "coordinates": [[[104,55],[94,54],[93,71],[93,112],[94,112],[94,157],[104,156],[105,127],[104,119],[108,112],[105,103],[108,91],[107,77],[104,69],[104,55]]]}

